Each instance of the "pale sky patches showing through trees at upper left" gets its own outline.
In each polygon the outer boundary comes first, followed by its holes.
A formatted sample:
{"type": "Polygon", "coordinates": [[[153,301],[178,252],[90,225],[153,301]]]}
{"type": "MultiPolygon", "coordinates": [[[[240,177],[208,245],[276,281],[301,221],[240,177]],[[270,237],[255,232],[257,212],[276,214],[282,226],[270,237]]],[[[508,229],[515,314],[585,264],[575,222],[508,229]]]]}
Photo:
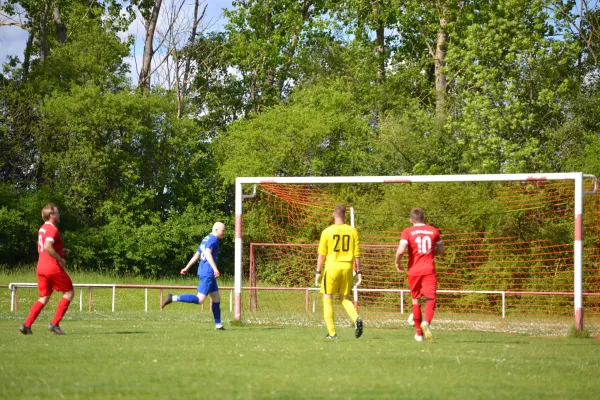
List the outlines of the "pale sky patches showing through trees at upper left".
{"type": "MultiPolygon", "coordinates": [[[[205,23],[209,24],[209,30],[219,31],[223,29],[223,26],[227,22],[223,17],[223,9],[231,9],[232,1],[233,0],[203,0],[203,3],[201,4],[207,5],[205,23]]],[[[5,2],[6,0],[0,0],[0,5],[5,2]]],[[[168,0],[163,0],[163,5],[168,2],[168,0]]],[[[189,16],[193,16],[194,1],[185,0],[185,2],[182,12],[187,11],[189,16]]],[[[161,15],[162,14],[163,13],[161,13],[161,15]]],[[[134,35],[136,38],[135,46],[131,49],[131,56],[127,60],[131,65],[131,74],[135,77],[137,76],[136,60],[141,59],[144,48],[143,21],[139,18],[136,19],[129,27],[128,32],[124,33],[123,36],[126,37],[129,34],[134,35]]],[[[9,56],[17,56],[22,60],[26,43],[27,32],[25,30],[16,26],[0,26],[0,65],[5,63],[9,56]]],[[[139,62],[137,62],[137,65],[139,65],[139,62]]]]}

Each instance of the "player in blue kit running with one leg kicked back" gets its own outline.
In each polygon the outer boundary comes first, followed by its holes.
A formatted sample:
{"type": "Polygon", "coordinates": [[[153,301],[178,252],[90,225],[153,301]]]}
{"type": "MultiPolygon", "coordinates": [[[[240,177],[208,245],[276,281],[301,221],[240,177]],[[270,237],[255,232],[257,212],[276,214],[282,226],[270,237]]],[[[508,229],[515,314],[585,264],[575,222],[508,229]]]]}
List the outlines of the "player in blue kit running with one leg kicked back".
{"type": "Polygon", "coordinates": [[[198,250],[194,256],[187,263],[185,268],[181,270],[181,274],[187,274],[187,271],[190,267],[198,260],[200,260],[200,264],[198,265],[198,294],[182,294],[179,296],[175,296],[172,294],[168,294],[165,301],[163,301],[161,305],[161,310],[172,302],[182,302],[182,303],[194,303],[194,304],[202,304],[206,297],[210,295],[212,300],[212,313],[215,317],[215,327],[217,330],[223,331],[223,324],[221,324],[221,297],[219,296],[219,286],[217,286],[217,278],[219,277],[219,269],[217,268],[217,258],[219,255],[219,240],[223,237],[225,233],[225,224],[222,222],[215,222],[213,225],[212,232],[206,235],[200,245],[198,245],[198,250]]]}

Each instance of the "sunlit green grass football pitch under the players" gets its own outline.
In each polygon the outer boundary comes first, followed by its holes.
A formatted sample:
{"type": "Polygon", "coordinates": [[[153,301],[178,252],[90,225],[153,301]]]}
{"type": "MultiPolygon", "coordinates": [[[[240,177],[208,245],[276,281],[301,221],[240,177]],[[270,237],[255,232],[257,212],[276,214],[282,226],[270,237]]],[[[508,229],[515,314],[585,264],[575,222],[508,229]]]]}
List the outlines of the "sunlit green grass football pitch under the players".
{"type": "MultiPolygon", "coordinates": [[[[33,277],[16,278],[27,277],[0,275],[0,284],[33,277]]],[[[400,318],[389,329],[366,320],[364,336],[355,339],[338,310],[337,341],[324,339],[322,324],[233,324],[228,309],[221,332],[209,312],[187,304],[164,312],[69,310],[61,323],[67,335],[56,336],[45,328],[58,296],[34,334],[23,336],[18,327],[34,294],[20,295],[18,312],[6,309],[6,289],[0,296],[0,399],[591,399],[600,392],[596,339],[434,324],[435,341],[417,343],[400,318]]],[[[138,297],[121,295],[119,305],[134,309],[126,303],[138,297]]]]}

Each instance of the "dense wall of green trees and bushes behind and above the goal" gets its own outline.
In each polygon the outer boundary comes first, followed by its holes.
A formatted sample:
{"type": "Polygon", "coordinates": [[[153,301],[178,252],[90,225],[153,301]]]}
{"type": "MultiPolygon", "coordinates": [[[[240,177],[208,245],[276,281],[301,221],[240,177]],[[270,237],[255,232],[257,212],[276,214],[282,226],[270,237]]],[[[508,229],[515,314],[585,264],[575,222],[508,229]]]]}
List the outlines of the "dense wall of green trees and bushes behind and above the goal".
{"type": "Polygon", "coordinates": [[[152,2],[4,2],[30,40],[0,73],[0,263],[35,260],[47,202],[72,266],[161,275],[219,219],[231,270],[236,176],[600,175],[588,3],[239,0],[142,92],[123,33],[152,2]]]}

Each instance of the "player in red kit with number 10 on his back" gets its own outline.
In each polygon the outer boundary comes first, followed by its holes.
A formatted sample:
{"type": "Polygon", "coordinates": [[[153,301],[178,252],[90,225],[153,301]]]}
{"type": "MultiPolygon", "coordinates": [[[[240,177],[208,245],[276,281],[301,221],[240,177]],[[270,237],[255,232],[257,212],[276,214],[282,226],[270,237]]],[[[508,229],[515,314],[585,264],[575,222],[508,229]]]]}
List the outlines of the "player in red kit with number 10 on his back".
{"type": "Polygon", "coordinates": [[[410,210],[410,223],[413,225],[402,231],[400,244],[396,250],[396,270],[402,272],[400,261],[408,250],[408,286],[412,297],[413,319],[417,333],[415,340],[423,341],[433,336],[429,324],[433,319],[437,275],[435,273],[435,255],[444,253],[444,243],[440,232],[425,224],[425,214],[420,208],[410,210]],[[421,296],[425,296],[425,319],[421,322],[421,296]]]}

